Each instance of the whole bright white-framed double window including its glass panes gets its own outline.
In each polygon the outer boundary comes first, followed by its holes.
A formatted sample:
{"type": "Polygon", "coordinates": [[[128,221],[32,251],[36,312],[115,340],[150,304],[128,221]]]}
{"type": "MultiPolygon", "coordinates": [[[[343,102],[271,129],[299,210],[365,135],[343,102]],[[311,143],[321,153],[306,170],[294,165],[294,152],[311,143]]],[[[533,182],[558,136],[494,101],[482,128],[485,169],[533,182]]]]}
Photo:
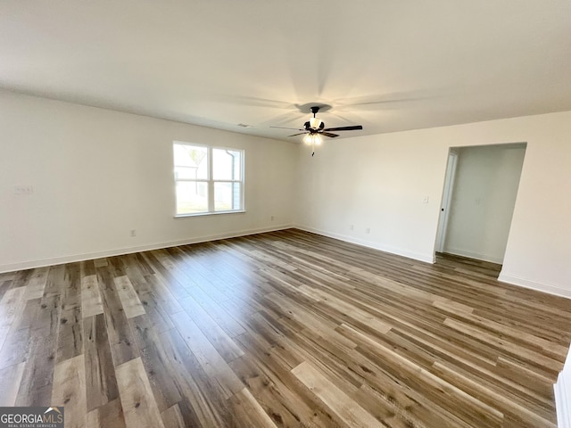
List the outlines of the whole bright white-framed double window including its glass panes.
{"type": "Polygon", "coordinates": [[[244,151],[175,142],[177,216],[244,210],[244,151]]]}

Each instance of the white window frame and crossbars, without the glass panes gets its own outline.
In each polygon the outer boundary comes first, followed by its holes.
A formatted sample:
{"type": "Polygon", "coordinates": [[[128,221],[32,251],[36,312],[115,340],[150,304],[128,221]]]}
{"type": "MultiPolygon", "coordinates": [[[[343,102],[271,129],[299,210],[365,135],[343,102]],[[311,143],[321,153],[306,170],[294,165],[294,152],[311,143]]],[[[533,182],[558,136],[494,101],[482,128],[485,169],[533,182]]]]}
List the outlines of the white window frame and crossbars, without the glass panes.
{"type": "Polygon", "coordinates": [[[210,144],[196,144],[196,143],[189,143],[185,141],[178,141],[175,140],[172,142],[172,161],[173,161],[173,179],[175,185],[175,218],[187,218],[187,217],[198,217],[198,216],[211,216],[211,215],[218,215],[218,214],[234,214],[236,212],[245,212],[245,151],[244,149],[238,149],[236,147],[225,147],[219,145],[210,145],[210,144]],[[187,145],[191,147],[201,147],[206,149],[206,169],[207,174],[206,178],[178,178],[176,173],[177,165],[175,163],[175,145],[187,145]],[[214,170],[213,170],[213,151],[214,150],[223,150],[223,151],[232,151],[232,152],[239,152],[240,153],[240,179],[214,179],[214,170]],[[193,182],[193,183],[206,183],[207,184],[207,210],[200,211],[200,212],[193,212],[193,213],[178,213],[178,198],[177,198],[177,185],[178,182],[193,182]],[[214,185],[216,183],[237,183],[240,186],[240,208],[237,210],[215,210],[215,197],[214,197],[214,185]]]}

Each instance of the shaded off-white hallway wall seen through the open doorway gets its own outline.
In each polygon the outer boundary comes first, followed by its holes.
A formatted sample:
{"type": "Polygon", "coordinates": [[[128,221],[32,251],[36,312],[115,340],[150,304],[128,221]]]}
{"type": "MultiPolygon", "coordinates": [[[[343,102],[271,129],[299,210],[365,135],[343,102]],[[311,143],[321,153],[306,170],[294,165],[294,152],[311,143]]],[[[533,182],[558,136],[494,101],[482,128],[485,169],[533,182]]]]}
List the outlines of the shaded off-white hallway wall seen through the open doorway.
{"type": "Polygon", "coordinates": [[[501,263],[508,243],[525,144],[457,149],[444,252],[501,263]]]}

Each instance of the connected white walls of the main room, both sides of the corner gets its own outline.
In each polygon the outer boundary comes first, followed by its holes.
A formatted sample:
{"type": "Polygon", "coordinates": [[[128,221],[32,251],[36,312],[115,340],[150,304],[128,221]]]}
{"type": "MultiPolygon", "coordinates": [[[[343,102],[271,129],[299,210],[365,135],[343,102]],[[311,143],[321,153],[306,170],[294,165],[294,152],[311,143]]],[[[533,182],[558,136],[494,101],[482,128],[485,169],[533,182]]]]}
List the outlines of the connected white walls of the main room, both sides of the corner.
{"type": "Polygon", "coordinates": [[[500,279],[571,297],[570,140],[567,111],[330,139],[311,158],[305,146],[0,92],[0,271],[293,222],[432,261],[449,148],[526,142],[500,279]],[[173,140],[244,148],[247,212],[173,218],[173,140]]]}

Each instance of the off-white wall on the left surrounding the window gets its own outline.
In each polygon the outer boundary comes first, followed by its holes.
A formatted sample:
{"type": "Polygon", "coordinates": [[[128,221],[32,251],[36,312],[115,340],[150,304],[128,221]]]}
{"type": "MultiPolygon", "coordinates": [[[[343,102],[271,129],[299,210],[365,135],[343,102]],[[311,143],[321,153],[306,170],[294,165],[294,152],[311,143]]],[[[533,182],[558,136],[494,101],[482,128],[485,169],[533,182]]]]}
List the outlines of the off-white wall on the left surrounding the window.
{"type": "Polygon", "coordinates": [[[291,226],[297,151],[0,92],[0,272],[291,226]],[[245,149],[246,212],[173,218],[173,140],[245,149]],[[34,193],[13,194],[15,185],[33,185],[34,193]]]}

